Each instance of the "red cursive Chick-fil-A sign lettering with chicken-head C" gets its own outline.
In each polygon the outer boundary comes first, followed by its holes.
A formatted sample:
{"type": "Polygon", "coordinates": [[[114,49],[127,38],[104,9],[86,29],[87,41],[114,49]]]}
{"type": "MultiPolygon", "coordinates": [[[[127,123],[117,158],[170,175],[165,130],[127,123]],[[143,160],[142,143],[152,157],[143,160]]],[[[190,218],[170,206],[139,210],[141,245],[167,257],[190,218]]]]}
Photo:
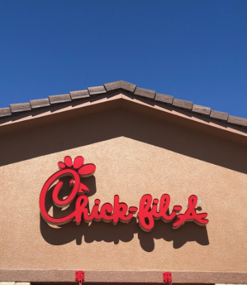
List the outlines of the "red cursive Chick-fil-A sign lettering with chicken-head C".
{"type": "Polygon", "coordinates": [[[165,223],[173,221],[173,228],[178,229],[187,221],[193,221],[198,225],[207,225],[209,220],[206,219],[207,213],[198,214],[196,212],[196,204],[198,198],[196,195],[189,196],[188,207],[184,214],[178,214],[182,207],[175,205],[169,214],[170,197],[168,194],[163,194],[158,200],[152,198],[150,194],[145,194],[141,197],[139,208],[128,207],[126,203],[120,202],[119,196],[114,196],[113,205],[110,203],[104,203],[101,207],[100,200],[95,199],[91,211],[89,210],[89,198],[86,196],[86,192],[89,192],[89,187],[80,181],[80,177],[89,177],[95,173],[96,166],[93,163],[84,164],[83,157],[75,157],[74,160],[71,157],[64,157],[64,162],[58,162],[60,170],[45,182],[40,193],[40,213],[47,223],[52,225],[63,225],[75,220],[76,225],[80,225],[83,220],[86,223],[90,223],[93,220],[104,222],[112,222],[116,225],[119,221],[121,223],[130,222],[134,213],[137,213],[139,225],[144,231],[150,231],[154,227],[154,220],[162,219],[165,223]],[[69,196],[64,200],[58,198],[58,194],[62,189],[63,182],[60,180],[64,176],[71,176],[69,181],[72,190],[69,196]],[[58,183],[54,186],[52,192],[52,199],[56,207],[67,207],[71,202],[75,201],[75,209],[70,214],[60,218],[54,218],[50,216],[45,208],[45,197],[49,191],[51,185],[58,180],[58,183]],[[175,219],[176,218],[176,219],[175,219]]]}

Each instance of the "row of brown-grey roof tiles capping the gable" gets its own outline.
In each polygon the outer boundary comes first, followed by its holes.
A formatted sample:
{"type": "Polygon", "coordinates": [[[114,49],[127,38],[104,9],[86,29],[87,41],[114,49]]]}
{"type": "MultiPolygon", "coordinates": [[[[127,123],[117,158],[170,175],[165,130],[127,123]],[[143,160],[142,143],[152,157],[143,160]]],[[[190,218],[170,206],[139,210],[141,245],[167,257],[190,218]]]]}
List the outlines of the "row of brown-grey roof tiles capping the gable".
{"type": "Polygon", "coordinates": [[[45,99],[30,100],[30,102],[27,103],[10,104],[10,107],[8,108],[0,109],[0,117],[12,116],[21,112],[32,111],[43,107],[49,107],[54,104],[62,104],[64,102],[70,102],[82,98],[90,98],[102,93],[110,93],[118,89],[124,89],[125,91],[128,91],[129,93],[132,93],[134,95],[162,102],[163,104],[169,104],[176,108],[185,109],[187,111],[198,113],[203,116],[208,116],[229,124],[247,127],[247,119],[245,118],[234,117],[228,115],[228,113],[211,110],[211,108],[206,106],[193,104],[193,102],[190,101],[176,99],[171,95],[165,95],[161,93],[156,93],[156,91],[153,90],[139,88],[137,87],[137,85],[123,80],[106,83],[103,86],[89,87],[86,90],[71,91],[68,94],[51,95],[49,96],[49,98],[45,99]]]}

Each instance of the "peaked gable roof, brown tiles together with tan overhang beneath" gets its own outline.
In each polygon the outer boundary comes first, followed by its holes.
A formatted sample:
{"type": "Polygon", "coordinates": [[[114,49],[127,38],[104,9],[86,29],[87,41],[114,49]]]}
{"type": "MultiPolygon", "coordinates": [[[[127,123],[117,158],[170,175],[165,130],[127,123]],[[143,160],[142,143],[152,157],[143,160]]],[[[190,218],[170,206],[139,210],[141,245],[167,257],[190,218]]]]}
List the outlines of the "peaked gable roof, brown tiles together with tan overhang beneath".
{"type": "Polygon", "coordinates": [[[119,108],[247,146],[247,119],[122,80],[0,109],[0,136],[119,108]]]}

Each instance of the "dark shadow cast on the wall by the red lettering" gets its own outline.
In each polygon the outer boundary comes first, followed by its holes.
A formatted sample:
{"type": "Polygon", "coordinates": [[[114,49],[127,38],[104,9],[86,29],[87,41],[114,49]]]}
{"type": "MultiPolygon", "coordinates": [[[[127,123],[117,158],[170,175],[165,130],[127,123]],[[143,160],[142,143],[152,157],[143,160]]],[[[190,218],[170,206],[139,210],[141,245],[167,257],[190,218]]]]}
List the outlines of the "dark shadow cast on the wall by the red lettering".
{"type": "MultiPolygon", "coordinates": [[[[71,191],[69,179],[70,178],[68,177],[62,179],[64,187],[62,187],[62,190],[59,193],[59,198],[67,196],[71,191]]],[[[83,179],[82,181],[89,186],[90,193],[87,196],[92,196],[97,192],[94,176],[83,179]]],[[[54,187],[51,187],[47,192],[45,205],[47,211],[53,207],[53,216],[56,218],[72,212],[73,209],[75,209],[75,201],[64,210],[53,206],[53,189],[54,187]]],[[[193,222],[187,222],[178,229],[172,229],[172,222],[163,223],[162,220],[156,220],[154,228],[147,233],[139,227],[137,218],[132,218],[128,224],[119,222],[117,225],[113,225],[112,223],[93,221],[90,225],[83,222],[80,225],[68,223],[61,227],[51,227],[45,222],[42,216],[40,216],[40,232],[49,244],[54,245],[67,244],[73,240],[76,240],[76,243],[80,245],[82,244],[82,238],[84,238],[84,242],[86,243],[104,241],[118,244],[119,241],[130,242],[130,240],[134,238],[134,234],[137,234],[141,248],[147,252],[153,251],[154,240],[161,238],[167,242],[173,241],[174,249],[179,249],[180,247],[183,247],[186,242],[192,241],[196,241],[201,245],[209,244],[207,228],[196,225],[193,222]]]]}

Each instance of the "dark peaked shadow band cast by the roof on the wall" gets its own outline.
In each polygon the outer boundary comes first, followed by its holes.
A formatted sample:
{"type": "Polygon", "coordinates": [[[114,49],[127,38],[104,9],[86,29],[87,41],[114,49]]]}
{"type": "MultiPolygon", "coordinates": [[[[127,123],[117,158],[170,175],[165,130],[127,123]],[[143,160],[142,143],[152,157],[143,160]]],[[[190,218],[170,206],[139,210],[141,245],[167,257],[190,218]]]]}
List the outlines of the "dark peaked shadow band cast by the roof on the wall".
{"type": "Polygon", "coordinates": [[[247,174],[245,146],[125,109],[2,135],[0,166],[116,137],[128,137],[247,174]]]}

